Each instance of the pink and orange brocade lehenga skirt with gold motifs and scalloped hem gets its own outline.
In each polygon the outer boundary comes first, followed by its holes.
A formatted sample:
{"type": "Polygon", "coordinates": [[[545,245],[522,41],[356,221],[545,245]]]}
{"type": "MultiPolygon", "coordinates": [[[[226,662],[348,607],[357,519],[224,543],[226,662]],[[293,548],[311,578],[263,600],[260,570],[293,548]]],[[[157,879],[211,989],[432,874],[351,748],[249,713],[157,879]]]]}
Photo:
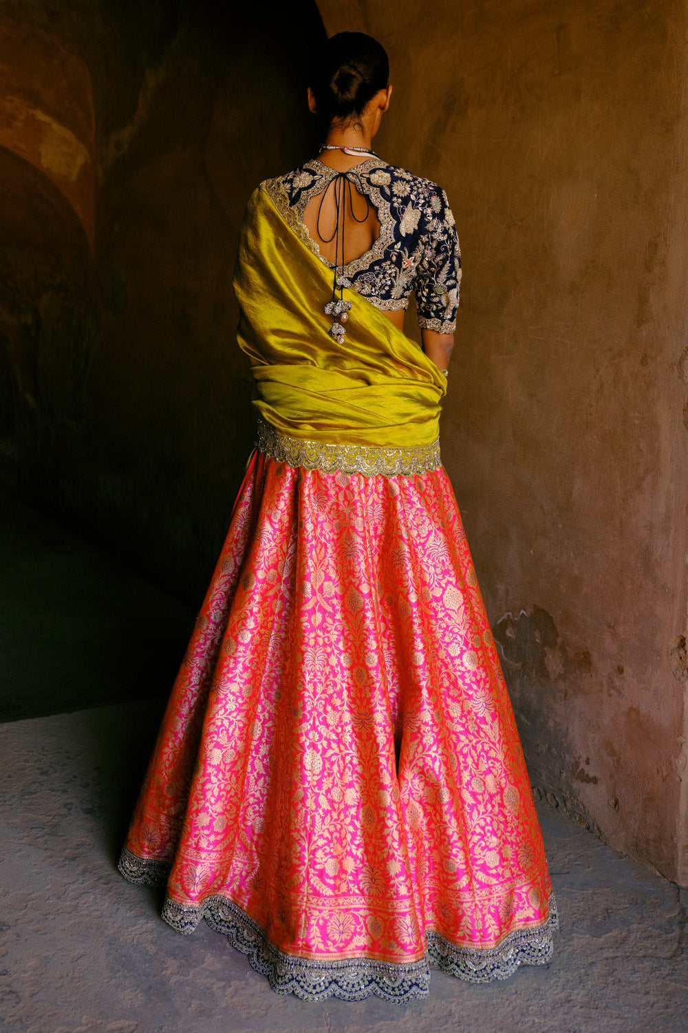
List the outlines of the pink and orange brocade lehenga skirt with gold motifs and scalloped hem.
{"type": "Polygon", "coordinates": [[[120,869],[307,1000],[550,959],[542,836],[441,467],[254,455],[120,869]]]}

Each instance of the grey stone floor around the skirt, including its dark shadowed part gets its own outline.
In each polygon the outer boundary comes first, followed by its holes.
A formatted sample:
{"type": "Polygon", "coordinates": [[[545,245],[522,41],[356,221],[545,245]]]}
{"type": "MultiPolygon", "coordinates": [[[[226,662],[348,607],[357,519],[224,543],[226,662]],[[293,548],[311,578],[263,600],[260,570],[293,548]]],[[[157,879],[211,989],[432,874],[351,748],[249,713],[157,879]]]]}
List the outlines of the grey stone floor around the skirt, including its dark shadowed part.
{"type": "Polygon", "coordinates": [[[0,676],[18,718],[0,725],[3,1033],[688,1031],[688,891],[547,804],[561,931],[550,965],[504,982],[434,973],[406,1006],[308,1004],[207,927],[173,932],[159,893],[116,862],[163,706],[152,693],[191,615],[25,507],[3,509],[0,535],[0,676]],[[46,716],[20,719],[34,701],[46,716]]]}

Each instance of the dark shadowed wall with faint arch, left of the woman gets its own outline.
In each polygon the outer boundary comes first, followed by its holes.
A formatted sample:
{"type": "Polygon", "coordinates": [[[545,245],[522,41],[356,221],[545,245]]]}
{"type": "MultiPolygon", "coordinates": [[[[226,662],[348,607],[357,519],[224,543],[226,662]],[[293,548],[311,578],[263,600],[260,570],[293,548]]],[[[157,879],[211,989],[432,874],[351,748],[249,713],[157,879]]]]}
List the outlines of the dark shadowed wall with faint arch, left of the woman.
{"type": "Polygon", "coordinates": [[[322,21],[24,0],[0,29],[0,482],[197,604],[253,444],[238,229],[314,149],[322,21]]]}

